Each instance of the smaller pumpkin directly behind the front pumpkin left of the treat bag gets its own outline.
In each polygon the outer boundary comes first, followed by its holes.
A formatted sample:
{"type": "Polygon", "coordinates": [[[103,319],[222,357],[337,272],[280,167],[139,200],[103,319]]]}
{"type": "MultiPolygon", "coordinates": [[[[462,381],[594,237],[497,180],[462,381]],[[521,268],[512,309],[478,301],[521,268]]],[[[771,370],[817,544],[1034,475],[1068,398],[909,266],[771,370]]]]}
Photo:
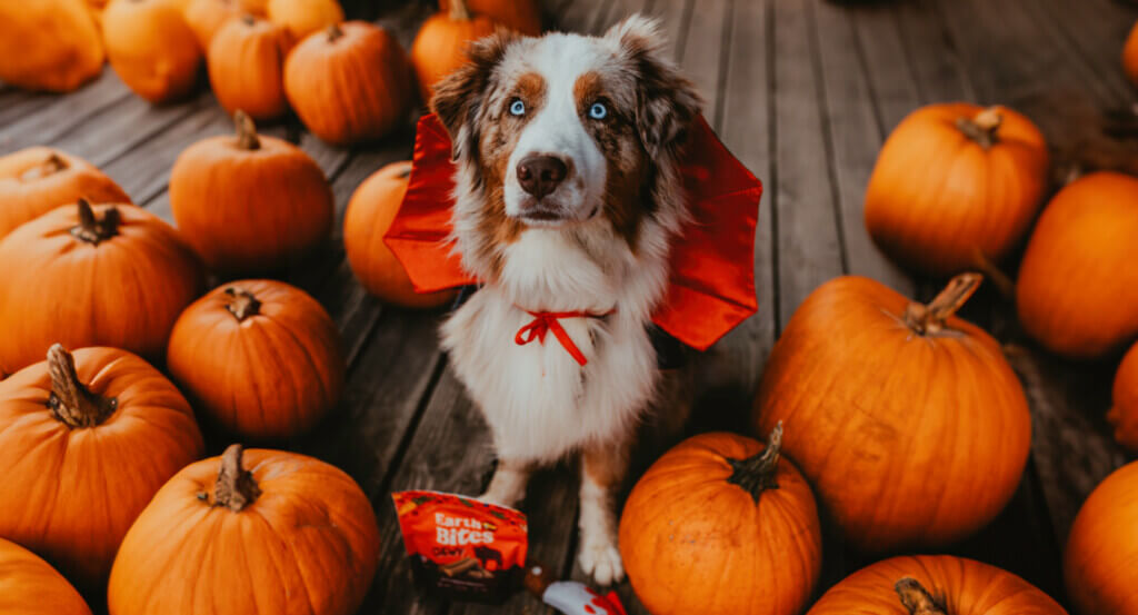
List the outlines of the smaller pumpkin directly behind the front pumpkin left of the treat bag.
{"type": "Polygon", "coordinates": [[[339,400],[346,369],[328,312],[272,280],[224,284],[187,308],[166,367],[199,412],[257,441],[315,425],[339,400]]]}

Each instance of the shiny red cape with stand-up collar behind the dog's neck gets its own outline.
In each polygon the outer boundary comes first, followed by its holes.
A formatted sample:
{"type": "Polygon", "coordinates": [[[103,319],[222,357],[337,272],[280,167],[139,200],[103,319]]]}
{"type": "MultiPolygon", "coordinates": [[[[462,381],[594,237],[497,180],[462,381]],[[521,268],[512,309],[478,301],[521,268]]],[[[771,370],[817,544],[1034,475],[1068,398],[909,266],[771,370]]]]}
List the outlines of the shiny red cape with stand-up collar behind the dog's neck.
{"type": "MultiPolygon", "coordinates": [[[[762,183],[702,116],[692,125],[681,170],[692,222],[673,241],[667,296],[652,320],[702,351],[758,310],[754,224],[762,183]]],[[[479,281],[462,269],[448,241],[453,178],[446,129],[434,114],[424,115],[407,194],[384,236],[419,293],[479,281]]]]}

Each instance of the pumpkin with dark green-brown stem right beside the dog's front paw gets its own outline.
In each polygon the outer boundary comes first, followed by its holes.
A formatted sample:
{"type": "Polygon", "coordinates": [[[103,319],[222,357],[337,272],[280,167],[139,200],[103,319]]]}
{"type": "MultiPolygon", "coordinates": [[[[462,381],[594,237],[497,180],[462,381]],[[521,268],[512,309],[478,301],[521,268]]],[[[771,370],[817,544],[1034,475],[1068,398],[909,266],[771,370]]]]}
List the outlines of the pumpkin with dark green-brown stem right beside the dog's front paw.
{"type": "Polygon", "coordinates": [[[620,518],[620,556],[655,615],[797,615],[822,572],[822,527],[806,479],[734,434],[682,442],[636,483],[620,518]]]}

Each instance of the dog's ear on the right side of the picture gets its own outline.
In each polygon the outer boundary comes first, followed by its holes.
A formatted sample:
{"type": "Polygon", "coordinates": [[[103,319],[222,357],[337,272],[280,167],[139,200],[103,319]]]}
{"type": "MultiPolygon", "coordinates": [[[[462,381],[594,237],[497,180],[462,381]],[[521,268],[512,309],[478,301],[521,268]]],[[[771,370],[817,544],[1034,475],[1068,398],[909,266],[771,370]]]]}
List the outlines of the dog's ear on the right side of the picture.
{"type": "Polygon", "coordinates": [[[636,129],[645,151],[652,158],[675,155],[702,101],[692,82],[667,59],[658,23],[633,15],[604,36],[619,43],[636,74],[636,129]]]}

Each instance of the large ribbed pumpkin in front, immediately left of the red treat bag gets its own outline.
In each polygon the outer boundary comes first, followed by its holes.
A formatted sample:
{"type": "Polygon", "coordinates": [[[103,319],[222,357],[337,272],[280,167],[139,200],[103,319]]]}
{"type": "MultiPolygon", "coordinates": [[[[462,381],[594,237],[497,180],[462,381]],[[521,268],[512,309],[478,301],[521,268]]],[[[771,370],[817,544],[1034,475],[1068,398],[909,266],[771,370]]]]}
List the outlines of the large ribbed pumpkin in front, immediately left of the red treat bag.
{"type": "Polygon", "coordinates": [[[234,444],[178,473],[139,515],[107,601],[110,615],[352,615],[378,557],[371,502],[348,475],[234,444]]]}

